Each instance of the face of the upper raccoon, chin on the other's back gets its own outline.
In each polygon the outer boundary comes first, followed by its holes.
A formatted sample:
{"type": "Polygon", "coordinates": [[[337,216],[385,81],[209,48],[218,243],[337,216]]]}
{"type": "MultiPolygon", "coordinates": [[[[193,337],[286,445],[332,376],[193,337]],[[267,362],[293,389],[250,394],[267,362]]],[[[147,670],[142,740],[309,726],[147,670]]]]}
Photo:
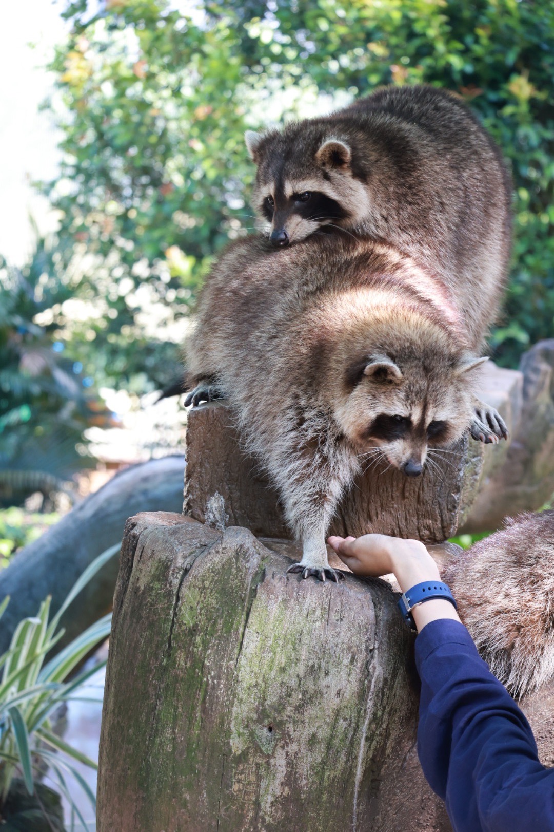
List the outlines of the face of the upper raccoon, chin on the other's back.
{"type": "Polygon", "coordinates": [[[245,139],[257,164],[253,205],[273,245],[304,240],[322,226],[355,225],[367,193],[352,176],[346,141],[306,138],[294,126],[283,134],[247,131],[245,139]]]}

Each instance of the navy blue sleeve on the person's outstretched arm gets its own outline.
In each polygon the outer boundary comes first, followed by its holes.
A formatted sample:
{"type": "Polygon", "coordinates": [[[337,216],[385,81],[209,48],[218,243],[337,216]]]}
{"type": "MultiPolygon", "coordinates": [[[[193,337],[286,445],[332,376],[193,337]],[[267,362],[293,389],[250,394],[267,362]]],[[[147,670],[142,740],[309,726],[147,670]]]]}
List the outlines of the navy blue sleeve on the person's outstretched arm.
{"type": "Polygon", "coordinates": [[[418,754],[454,832],[553,832],[554,769],[466,628],[441,619],[415,641],[418,754]]]}

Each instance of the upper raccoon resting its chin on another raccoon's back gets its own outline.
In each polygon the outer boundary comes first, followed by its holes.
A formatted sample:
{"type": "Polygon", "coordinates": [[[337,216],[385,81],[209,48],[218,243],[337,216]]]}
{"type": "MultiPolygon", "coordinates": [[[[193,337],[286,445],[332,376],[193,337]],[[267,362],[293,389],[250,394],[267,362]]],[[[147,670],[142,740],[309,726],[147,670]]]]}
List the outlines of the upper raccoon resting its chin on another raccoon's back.
{"type": "Polygon", "coordinates": [[[274,245],[339,227],[498,304],[512,188],[498,148],[458,97],[383,87],[330,116],[245,138],[257,164],[252,202],[274,245]]]}

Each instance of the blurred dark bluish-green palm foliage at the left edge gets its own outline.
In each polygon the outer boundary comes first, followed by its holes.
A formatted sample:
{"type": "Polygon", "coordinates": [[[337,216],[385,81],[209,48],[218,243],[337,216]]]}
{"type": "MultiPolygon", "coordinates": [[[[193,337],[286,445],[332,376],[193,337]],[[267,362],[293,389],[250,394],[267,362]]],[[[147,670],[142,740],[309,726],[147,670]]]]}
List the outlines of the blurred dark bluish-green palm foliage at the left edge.
{"type": "Polygon", "coordinates": [[[111,422],[93,379],[59,339],[68,303],[60,252],[45,240],[22,270],[0,260],[0,508],[66,491],[91,462],[83,432],[111,422]]]}

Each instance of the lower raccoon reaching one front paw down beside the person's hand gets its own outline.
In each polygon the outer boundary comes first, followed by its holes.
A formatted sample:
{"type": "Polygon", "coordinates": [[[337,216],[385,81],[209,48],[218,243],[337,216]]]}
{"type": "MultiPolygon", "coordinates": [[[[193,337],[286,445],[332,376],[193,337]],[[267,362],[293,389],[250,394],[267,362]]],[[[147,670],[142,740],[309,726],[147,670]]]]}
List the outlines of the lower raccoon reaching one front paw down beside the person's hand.
{"type": "Polygon", "coordinates": [[[507,435],[473,393],[494,308],[389,245],[312,237],[274,250],[238,240],[203,286],[187,347],[188,403],[220,395],[302,539],[293,571],[336,579],[326,530],[361,463],[409,476],[468,429],[507,435]]]}

